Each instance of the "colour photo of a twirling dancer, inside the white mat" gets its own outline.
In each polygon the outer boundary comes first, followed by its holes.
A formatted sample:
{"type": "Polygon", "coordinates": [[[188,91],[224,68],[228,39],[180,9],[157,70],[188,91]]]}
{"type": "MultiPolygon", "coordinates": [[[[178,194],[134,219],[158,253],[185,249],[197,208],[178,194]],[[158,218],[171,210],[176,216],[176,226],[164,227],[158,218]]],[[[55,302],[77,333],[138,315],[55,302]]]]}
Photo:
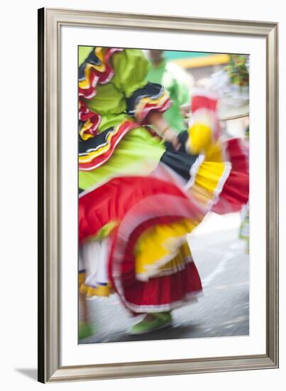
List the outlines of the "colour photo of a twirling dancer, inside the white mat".
{"type": "Polygon", "coordinates": [[[79,344],[249,335],[249,57],[78,46],[79,344]]]}

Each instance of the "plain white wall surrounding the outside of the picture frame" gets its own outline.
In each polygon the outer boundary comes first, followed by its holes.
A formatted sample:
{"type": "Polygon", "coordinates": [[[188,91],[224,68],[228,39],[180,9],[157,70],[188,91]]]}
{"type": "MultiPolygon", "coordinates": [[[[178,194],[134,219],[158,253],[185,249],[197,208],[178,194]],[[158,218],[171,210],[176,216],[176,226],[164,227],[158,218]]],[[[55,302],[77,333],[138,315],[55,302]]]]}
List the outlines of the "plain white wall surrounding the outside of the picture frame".
{"type": "Polygon", "coordinates": [[[36,254],[36,43],[37,9],[46,7],[81,8],[101,11],[128,11],[149,14],[241,18],[280,22],[280,199],[281,203],[281,293],[280,293],[280,369],[241,373],[214,373],[174,377],[150,377],[139,380],[70,383],[53,385],[61,390],[92,390],[104,387],[114,390],[207,390],[253,388],[265,391],[284,390],[285,358],[285,48],[286,13],[284,1],[14,1],[1,4],[1,377],[3,390],[38,390],[35,378],[37,364],[37,254],[36,254]],[[283,72],[282,72],[283,70],[283,72]],[[4,123],[4,126],[3,126],[4,123]],[[284,149],[284,151],[282,151],[284,149]],[[17,156],[17,158],[15,158],[17,156]],[[283,232],[282,232],[283,230],[283,232]],[[284,234],[284,235],[283,235],[284,234]],[[25,374],[23,374],[26,373],[25,374]],[[27,375],[28,374],[28,375],[27,375]],[[253,388],[252,388],[253,387],[253,388]]]}

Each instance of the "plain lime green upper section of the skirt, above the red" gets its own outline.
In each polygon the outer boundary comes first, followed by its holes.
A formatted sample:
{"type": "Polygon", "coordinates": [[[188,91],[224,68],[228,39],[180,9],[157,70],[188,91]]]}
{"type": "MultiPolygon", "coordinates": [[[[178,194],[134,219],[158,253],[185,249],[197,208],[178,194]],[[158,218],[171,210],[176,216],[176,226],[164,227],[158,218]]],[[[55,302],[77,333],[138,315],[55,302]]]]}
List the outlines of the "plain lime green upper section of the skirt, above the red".
{"type": "Polygon", "coordinates": [[[164,151],[163,142],[143,127],[132,129],[106,164],[93,171],[79,171],[79,188],[86,190],[119,175],[148,175],[158,165],[164,151]]]}

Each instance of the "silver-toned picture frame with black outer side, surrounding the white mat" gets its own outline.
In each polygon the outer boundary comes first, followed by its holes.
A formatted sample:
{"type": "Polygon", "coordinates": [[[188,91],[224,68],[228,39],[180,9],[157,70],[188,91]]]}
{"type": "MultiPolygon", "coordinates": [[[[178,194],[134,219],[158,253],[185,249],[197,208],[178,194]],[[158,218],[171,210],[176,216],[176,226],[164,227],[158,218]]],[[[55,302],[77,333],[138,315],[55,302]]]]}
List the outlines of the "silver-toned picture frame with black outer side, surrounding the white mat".
{"type": "Polygon", "coordinates": [[[39,50],[39,347],[38,380],[114,379],[277,368],[277,23],[40,9],[39,50]],[[60,367],[60,134],[58,132],[59,31],[61,25],[117,26],[166,31],[205,31],[263,36],[267,42],[267,346],[266,355],[171,360],[169,362],[110,363],[60,367]],[[197,26],[197,28],[195,28],[197,26]],[[244,33],[241,28],[245,28],[244,33]],[[270,137],[270,132],[271,136],[270,137]],[[274,132],[274,133],[273,133],[274,132]],[[276,168],[276,169],[275,169],[276,168]],[[43,174],[43,175],[41,175],[43,174]],[[272,206],[271,206],[272,205],[272,206]],[[42,208],[41,208],[42,207],[42,208]],[[42,308],[40,308],[42,306],[42,308]]]}

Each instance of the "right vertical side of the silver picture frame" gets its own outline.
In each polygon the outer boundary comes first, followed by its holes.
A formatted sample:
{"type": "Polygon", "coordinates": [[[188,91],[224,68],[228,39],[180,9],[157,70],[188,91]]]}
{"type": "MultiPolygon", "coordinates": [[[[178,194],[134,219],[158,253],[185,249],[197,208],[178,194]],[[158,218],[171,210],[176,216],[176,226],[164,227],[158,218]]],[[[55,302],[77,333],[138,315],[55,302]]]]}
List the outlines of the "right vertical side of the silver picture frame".
{"type": "Polygon", "coordinates": [[[279,127],[278,25],[267,37],[267,353],[279,366],[279,127]]]}

